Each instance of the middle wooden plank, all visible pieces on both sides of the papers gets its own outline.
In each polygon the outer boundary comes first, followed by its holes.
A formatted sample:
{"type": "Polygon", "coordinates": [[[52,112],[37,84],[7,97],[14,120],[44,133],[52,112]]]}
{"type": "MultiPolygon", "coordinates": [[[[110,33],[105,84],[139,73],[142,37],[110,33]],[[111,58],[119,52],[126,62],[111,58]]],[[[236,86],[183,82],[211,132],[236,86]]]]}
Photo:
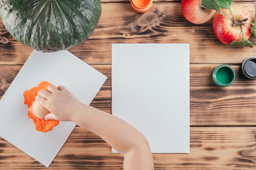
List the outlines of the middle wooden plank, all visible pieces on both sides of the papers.
{"type": "MultiPolygon", "coordinates": [[[[111,112],[111,65],[92,65],[108,79],[91,106],[111,112]]],[[[236,73],[228,87],[216,86],[211,73],[217,64],[190,65],[191,126],[256,126],[255,79],[245,78],[240,66],[231,65],[236,73]]],[[[0,99],[21,66],[0,66],[0,99]]]]}

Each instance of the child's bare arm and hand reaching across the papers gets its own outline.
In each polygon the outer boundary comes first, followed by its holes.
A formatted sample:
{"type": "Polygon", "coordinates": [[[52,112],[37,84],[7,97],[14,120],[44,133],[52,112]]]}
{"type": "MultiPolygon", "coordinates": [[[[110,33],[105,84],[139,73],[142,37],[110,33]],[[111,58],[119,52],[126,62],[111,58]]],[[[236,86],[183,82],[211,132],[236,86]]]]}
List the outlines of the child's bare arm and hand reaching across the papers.
{"type": "Polygon", "coordinates": [[[45,119],[73,121],[90,130],[124,155],[124,170],[153,170],[153,156],[147,139],[125,121],[82,104],[65,87],[48,86],[36,96],[51,113],[45,119]]]}

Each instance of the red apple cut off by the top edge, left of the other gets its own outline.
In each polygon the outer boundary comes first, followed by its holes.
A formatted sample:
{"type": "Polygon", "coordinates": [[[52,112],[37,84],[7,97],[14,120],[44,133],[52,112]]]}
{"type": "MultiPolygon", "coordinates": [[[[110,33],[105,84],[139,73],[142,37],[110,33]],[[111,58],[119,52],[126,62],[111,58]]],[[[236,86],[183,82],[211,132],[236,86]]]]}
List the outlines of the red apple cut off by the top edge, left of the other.
{"type": "Polygon", "coordinates": [[[183,16],[194,24],[203,24],[216,13],[215,10],[202,6],[202,0],[182,0],[181,11],[183,16]]]}

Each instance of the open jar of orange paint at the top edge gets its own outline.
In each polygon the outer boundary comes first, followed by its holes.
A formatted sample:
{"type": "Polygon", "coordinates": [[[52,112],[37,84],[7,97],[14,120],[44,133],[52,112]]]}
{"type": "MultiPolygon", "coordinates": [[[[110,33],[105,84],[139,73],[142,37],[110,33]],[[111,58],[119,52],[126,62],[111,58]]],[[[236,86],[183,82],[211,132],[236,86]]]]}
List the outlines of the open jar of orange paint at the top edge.
{"type": "Polygon", "coordinates": [[[153,0],[130,0],[130,4],[134,11],[144,13],[152,7],[153,0]]]}

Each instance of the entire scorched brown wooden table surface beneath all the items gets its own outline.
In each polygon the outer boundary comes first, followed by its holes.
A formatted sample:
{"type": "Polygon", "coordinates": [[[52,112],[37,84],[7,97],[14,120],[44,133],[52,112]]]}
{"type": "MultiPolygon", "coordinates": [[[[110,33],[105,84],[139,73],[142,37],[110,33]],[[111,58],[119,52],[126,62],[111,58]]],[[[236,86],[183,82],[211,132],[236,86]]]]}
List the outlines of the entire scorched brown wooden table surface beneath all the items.
{"type": "MultiPolygon", "coordinates": [[[[255,19],[253,0],[235,0],[255,19]]],[[[92,36],[69,51],[108,76],[91,106],[111,114],[112,43],[190,44],[190,153],[153,154],[155,170],[255,170],[256,80],[247,79],[241,62],[256,56],[254,48],[229,47],[214,35],[211,19],[195,25],[180,10],[180,0],[155,0],[146,13],[136,13],[128,0],[101,0],[102,14],[92,36]],[[218,87],[213,69],[230,64],[231,86],[218,87]]],[[[0,99],[33,49],[17,42],[0,20],[0,99]]],[[[1,108],[0,108],[1,111],[1,108]]],[[[175,140],[175,139],[173,139],[175,140]]],[[[119,170],[123,157],[92,132],[76,126],[49,170],[119,170]]],[[[47,169],[0,137],[0,169],[47,169]]]]}

